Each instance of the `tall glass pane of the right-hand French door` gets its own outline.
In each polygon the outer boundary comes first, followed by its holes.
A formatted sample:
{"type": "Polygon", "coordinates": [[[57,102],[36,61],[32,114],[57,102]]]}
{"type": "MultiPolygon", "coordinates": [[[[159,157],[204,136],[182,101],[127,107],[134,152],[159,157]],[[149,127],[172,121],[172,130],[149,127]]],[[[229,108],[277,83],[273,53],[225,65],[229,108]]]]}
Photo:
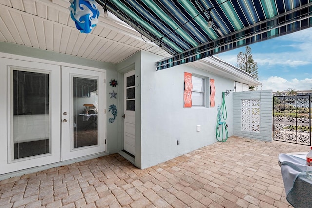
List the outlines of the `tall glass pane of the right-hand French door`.
{"type": "Polygon", "coordinates": [[[98,80],[73,78],[74,149],[98,144],[98,80]]]}

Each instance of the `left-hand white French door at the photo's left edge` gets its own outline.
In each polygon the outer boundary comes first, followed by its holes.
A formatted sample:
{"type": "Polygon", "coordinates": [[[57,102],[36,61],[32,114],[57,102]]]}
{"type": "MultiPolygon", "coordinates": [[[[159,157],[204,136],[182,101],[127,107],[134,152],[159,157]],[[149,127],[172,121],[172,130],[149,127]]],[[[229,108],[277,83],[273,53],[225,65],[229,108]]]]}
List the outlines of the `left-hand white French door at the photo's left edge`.
{"type": "Polygon", "coordinates": [[[0,174],[59,162],[59,66],[7,58],[0,66],[0,174]]]}

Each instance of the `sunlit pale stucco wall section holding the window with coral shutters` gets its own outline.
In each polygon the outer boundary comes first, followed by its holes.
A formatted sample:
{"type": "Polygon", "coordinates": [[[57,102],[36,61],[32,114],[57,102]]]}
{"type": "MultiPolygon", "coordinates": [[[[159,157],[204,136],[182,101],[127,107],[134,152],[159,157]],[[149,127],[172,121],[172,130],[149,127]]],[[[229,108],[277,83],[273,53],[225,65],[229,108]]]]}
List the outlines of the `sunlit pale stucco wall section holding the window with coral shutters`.
{"type": "MultiPolygon", "coordinates": [[[[216,142],[217,106],[222,91],[234,89],[234,81],[180,65],[156,71],[159,57],[142,52],[141,57],[141,167],[160,162],[216,142]],[[215,79],[215,107],[183,107],[184,72],[215,79]],[[197,132],[197,125],[201,131],[197,132]],[[177,140],[180,145],[177,145],[177,140]]],[[[229,136],[233,134],[232,93],[225,98],[229,136]]],[[[137,138],[136,138],[137,139],[137,138]]],[[[137,156],[137,155],[136,155],[137,156]]]]}

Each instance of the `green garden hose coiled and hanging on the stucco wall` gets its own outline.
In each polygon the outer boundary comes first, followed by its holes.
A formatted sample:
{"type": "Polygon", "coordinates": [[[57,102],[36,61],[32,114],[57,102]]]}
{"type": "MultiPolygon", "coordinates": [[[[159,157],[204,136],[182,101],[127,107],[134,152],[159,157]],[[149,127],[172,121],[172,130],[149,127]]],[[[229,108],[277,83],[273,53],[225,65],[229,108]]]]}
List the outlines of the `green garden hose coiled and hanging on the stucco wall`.
{"type": "Polygon", "coordinates": [[[218,122],[216,123],[216,139],[219,142],[226,142],[228,140],[228,125],[225,123],[228,113],[225,105],[225,92],[222,92],[222,104],[218,106],[218,122]],[[223,121],[222,121],[223,119],[223,121]],[[220,131],[221,128],[221,131],[220,131]]]}

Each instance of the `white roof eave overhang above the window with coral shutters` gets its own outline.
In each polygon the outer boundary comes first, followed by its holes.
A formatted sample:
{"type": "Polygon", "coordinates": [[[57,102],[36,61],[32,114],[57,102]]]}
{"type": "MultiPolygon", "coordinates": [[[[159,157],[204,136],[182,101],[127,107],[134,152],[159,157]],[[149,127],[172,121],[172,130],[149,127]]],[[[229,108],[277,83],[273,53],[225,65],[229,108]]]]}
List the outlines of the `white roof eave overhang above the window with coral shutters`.
{"type": "Polygon", "coordinates": [[[222,76],[222,77],[225,77],[225,78],[228,78],[228,79],[240,82],[240,83],[248,84],[249,86],[261,85],[261,83],[255,80],[254,78],[230,67],[229,65],[225,63],[218,62],[217,60],[211,57],[207,57],[205,59],[201,59],[196,62],[202,65],[200,67],[202,70],[209,71],[216,75],[219,75],[219,76],[222,76]]]}

